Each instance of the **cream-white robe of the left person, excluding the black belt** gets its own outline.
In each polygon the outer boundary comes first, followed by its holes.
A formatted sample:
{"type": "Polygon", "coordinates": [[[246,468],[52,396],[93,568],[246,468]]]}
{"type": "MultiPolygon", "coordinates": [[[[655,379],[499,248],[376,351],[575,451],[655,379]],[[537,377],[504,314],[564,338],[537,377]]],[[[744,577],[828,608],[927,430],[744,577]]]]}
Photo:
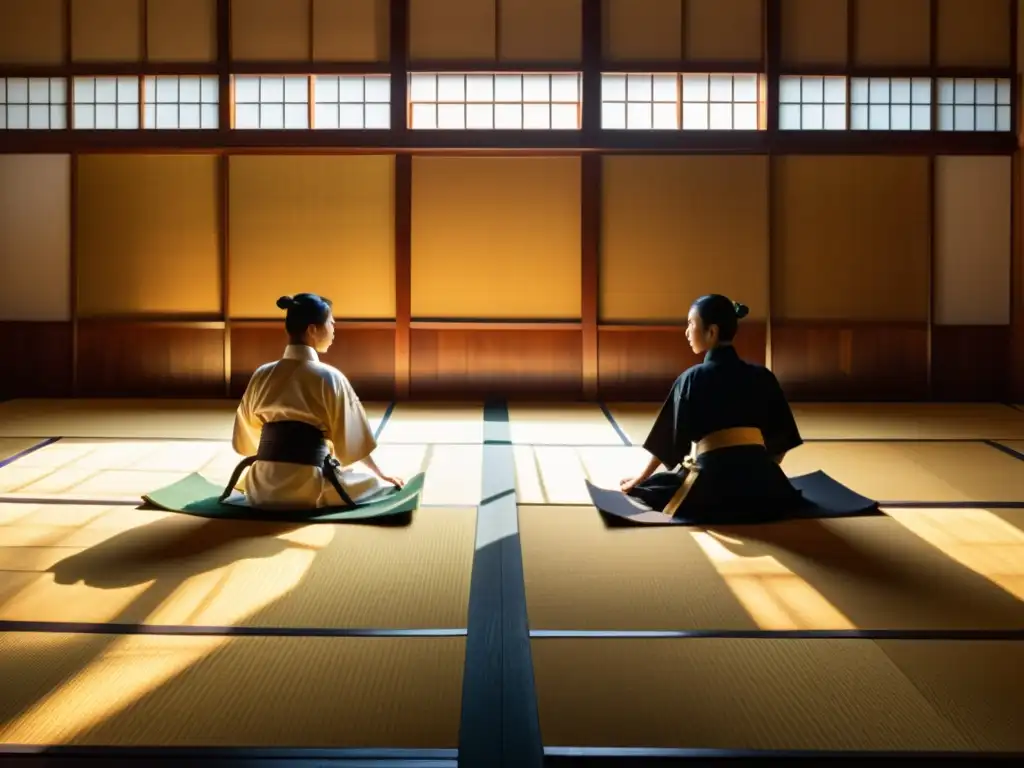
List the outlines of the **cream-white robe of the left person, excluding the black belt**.
{"type": "MultiPolygon", "coordinates": [[[[255,456],[260,430],[271,421],[301,421],[323,430],[332,455],[341,463],[341,485],[353,502],[390,487],[371,472],[350,468],[373,453],[377,440],[348,379],[321,362],[311,347],[289,344],[281,360],[256,370],[234,415],[231,446],[242,456],[255,456]]],[[[248,504],[257,507],[344,504],[321,467],[258,461],[242,485],[248,504]]]]}

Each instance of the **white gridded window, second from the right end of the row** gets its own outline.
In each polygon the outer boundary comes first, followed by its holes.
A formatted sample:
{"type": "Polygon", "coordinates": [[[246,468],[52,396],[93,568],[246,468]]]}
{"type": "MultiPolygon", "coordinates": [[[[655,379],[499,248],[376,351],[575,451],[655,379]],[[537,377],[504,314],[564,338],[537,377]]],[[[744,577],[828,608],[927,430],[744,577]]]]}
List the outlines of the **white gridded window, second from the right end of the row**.
{"type": "Polygon", "coordinates": [[[932,127],[931,78],[853,78],[850,128],[927,131],[932,127]]]}

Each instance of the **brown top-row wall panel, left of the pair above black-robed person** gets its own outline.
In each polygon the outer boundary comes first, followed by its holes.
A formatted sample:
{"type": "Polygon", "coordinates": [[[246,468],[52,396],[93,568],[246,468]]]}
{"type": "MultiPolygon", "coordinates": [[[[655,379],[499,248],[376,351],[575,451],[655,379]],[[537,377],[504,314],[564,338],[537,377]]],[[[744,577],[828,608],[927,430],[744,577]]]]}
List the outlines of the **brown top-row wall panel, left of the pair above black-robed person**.
{"type": "Polygon", "coordinates": [[[601,0],[602,50],[607,60],[680,59],[682,0],[601,0]]]}

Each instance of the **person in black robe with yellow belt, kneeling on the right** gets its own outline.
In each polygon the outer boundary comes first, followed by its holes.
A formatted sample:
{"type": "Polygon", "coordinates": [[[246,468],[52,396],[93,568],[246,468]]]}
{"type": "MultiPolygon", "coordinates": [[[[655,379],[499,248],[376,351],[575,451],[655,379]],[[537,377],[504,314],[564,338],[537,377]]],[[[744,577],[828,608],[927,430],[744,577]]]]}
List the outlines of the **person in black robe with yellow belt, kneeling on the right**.
{"type": "Polygon", "coordinates": [[[748,311],[717,294],[690,309],[686,338],[703,361],[676,379],[644,442],[650,462],[621,484],[652,510],[756,521],[786,516],[806,503],[779,466],[803,443],[782,388],[732,344],[748,311]],[[656,472],[658,465],[670,471],[656,472]]]}

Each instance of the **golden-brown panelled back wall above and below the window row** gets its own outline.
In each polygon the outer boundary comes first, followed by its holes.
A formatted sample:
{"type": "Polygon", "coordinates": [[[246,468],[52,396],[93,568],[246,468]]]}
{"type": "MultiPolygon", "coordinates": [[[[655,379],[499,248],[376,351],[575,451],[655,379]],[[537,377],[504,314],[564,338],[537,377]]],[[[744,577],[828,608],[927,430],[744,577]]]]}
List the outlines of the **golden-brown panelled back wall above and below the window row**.
{"type": "MultiPolygon", "coordinates": [[[[217,57],[215,0],[71,5],[66,26],[61,2],[15,0],[0,61],[217,57]]],[[[782,0],[781,60],[1008,65],[1009,3],[941,0],[934,22],[932,5],[782,0]]],[[[240,67],[389,55],[387,0],[236,6],[240,67]]],[[[579,66],[579,9],[412,0],[409,55],[579,66]]],[[[602,9],[606,70],[765,55],[760,0],[602,9]]],[[[750,305],[741,351],[795,397],[1001,398],[1022,351],[1015,163],[810,145],[0,155],[3,394],[237,394],[281,351],[276,297],[311,290],[335,300],[330,359],[367,397],[401,377],[411,396],[581,397],[595,365],[600,396],[656,398],[693,361],[690,301],[715,291],[750,305]]]]}

